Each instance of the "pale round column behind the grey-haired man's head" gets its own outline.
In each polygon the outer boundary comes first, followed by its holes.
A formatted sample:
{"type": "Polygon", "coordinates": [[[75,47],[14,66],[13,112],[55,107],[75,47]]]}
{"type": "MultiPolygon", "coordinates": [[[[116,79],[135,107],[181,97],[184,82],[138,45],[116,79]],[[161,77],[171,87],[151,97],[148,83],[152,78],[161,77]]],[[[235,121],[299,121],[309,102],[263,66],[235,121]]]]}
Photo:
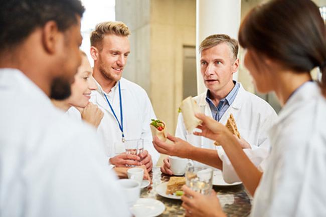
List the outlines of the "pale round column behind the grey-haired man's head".
{"type": "MultiPolygon", "coordinates": [[[[227,34],[231,38],[238,38],[241,0],[197,0],[196,4],[197,91],[200,94],[206,87],[200,72],[198,47],[212,34],[227,34]]],[[[238,79],[238,73],[234,74],[233,79],[238,79]]]]}

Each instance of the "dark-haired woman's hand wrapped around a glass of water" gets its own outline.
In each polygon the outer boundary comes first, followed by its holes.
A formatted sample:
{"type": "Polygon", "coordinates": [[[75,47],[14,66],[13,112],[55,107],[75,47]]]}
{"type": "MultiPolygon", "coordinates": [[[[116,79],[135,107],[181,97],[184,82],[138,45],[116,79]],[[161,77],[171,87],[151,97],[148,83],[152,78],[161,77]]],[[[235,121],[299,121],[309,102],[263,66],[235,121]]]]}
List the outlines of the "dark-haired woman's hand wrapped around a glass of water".
{"type": "Polygon", "coordinates": [[[183,201],[182,207],[186,209],[186,216],[226,217],[214,190],[210,195],[204,195],[193,191],[186,185],[182,189],[185,192],[181,197],[183,201]]]}

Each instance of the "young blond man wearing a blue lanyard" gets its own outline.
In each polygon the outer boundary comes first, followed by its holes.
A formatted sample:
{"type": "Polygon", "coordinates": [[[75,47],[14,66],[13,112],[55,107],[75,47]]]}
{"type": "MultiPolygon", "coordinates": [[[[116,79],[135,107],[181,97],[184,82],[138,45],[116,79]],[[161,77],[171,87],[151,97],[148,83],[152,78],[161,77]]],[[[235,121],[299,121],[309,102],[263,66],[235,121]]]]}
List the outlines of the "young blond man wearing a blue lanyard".
{"type": "Polygon", "coordinates": [[[156,117],[145,90],[122,78],[130,53],[129,35],[122,22],[100,23],[92,32],[90,52],[98,89],[92,92],[90,101],[104,112],[98,132],[103,137],[109,163],[116,167],[145,165],[150,171],[159,158],[151,144],[149,128],[150,120],[156,117]],[[144,141],[140,157],[126,154],[124,140],[140,138],[144,141]]]}

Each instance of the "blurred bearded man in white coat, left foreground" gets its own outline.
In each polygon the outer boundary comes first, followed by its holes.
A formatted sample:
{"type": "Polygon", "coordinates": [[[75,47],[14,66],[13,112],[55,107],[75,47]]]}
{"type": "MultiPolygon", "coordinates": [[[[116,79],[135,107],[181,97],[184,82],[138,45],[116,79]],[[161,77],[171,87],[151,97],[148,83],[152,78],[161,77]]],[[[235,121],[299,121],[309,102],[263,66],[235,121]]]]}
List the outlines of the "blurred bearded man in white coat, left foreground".
{"type": "Polygon", "coordinates": [[[130,216],[95,132],[49,99],[70,95],[83,12],[78,0],[2,3],[1,216],[130,216]]]}

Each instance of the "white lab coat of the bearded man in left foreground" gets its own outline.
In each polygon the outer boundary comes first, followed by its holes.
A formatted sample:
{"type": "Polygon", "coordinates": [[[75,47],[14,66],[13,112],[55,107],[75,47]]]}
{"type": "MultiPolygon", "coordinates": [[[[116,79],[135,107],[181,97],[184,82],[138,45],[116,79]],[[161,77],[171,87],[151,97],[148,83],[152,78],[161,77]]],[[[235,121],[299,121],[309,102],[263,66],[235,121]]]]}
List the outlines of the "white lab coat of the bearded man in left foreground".
{"type": "Polygon", "coordinates": [[[0,69],[0,216],[130,216],[95,131],[0,69]]]}

